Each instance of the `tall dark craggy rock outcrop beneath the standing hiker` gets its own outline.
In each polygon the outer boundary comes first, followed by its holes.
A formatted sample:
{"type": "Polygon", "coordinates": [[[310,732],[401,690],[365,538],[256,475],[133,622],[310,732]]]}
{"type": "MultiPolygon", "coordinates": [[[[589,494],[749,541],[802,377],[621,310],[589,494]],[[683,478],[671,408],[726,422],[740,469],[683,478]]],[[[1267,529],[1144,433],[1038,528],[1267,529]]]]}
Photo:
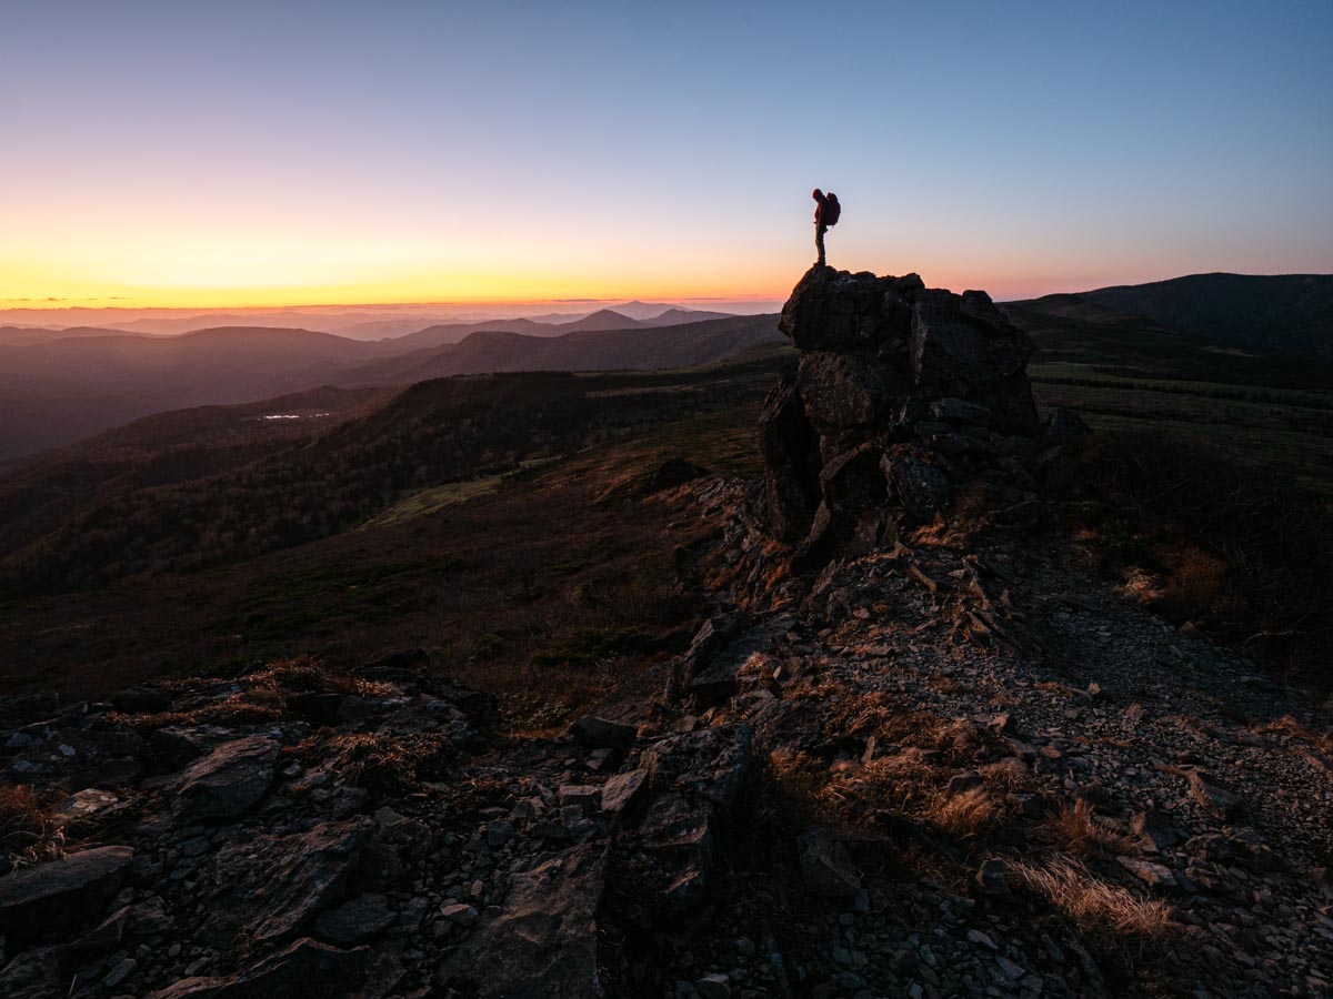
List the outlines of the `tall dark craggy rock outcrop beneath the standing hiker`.
{"type": "MultiPolygon", "coordinates": [[[[760,418],[764,507],[769,530],[800,546],[797,567],[872,511],[930,521],[978,484],[1016,501],[1033,485],[1033,348],[985,292],[814,266],[780,328],[801,356],[760,418]]],[[[1061,414],[1052,429],[1065,440],[1076,426],[1061,414]]]]}

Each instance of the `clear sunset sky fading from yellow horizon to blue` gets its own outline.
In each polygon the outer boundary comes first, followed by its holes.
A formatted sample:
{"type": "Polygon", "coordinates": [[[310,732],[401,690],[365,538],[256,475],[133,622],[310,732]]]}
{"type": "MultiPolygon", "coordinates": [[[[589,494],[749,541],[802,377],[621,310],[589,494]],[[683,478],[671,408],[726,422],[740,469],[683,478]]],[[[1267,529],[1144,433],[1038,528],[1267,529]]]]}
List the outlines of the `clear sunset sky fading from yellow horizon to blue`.
{"type": "Polygon", "coordinates": [[[0,308],[1333,272],[1333,3],[0,4],[0,308]]]}

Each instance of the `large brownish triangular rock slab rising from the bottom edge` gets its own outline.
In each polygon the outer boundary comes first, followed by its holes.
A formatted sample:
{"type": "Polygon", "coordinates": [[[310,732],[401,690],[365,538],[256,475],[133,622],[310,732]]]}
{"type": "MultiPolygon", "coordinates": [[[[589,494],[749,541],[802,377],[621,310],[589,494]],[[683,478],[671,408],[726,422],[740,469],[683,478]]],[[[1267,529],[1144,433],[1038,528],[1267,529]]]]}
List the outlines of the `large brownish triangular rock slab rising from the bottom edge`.
{"type": "Polygon", "coordinates": [[[440,964],[440,986],[479,999],[605,995],[597,976],[597,906],[605,848],[569,850],[513,879],[504,911],[477,923],[440,964]]]}

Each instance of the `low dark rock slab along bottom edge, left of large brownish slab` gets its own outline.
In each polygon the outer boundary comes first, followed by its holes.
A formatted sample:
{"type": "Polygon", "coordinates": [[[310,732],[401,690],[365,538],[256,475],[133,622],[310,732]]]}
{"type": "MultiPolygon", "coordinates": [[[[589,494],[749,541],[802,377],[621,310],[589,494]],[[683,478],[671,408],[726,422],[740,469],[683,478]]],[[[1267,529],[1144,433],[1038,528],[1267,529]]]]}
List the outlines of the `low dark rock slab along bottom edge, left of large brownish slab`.
{"type": "Polygon", "coordinates": [[[148,999],[312,999],[356,995],[365,947],[344,951],[304,938],[233,978],[187,978],[148,999]]]}

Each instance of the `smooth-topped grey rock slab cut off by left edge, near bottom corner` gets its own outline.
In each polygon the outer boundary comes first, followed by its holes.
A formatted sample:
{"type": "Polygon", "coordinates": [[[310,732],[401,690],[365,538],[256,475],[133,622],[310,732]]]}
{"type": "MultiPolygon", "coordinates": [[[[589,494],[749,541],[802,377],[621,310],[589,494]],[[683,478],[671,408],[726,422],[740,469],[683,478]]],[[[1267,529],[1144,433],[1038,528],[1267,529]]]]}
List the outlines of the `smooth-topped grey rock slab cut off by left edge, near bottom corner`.
{"type": "Polygon", "coordinates": [[[99,914],[133,856],[128,846],[103,846],[0,878],[0,935],[31,940],[99,914]]]}

